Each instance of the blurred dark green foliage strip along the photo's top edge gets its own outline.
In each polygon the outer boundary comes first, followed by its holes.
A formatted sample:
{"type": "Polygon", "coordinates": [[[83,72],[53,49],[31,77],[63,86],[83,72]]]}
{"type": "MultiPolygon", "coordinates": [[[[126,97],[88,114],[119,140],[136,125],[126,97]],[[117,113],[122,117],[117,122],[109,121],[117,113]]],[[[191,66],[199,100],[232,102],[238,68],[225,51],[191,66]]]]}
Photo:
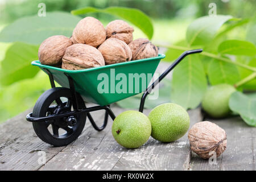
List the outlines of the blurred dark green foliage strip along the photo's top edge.
{"type": "MultiPolygon", "coordinates": [[[[106,8],[110,6],[133,7],[142,10],[151,18],[197,18],[207,15],[209,3],[216,3],[217,14],[231,14],[236,17],[250,17],[255,11],[255,0],[236,0],[223,2],[221,0],[8,0],[0,7],[1,22],[13,22],[26,15],[38,13],[38,4],[45,3],[46,10],[68,11],[86,6],[106,8]]],[[[0,5],[1,6],[1,5],[0,5]]],[[[109,19],[111,16],[98,14],[97,18],[109,19]]]]}

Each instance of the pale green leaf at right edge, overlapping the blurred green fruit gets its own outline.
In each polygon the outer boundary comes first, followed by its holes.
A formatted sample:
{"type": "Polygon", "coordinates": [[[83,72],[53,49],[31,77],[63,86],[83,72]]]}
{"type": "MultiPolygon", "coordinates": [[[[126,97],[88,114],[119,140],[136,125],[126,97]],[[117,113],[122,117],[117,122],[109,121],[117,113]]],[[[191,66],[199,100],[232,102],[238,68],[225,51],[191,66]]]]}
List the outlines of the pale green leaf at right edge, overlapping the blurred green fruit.
{"type": "Polygon", "coordinates": [[[234,92],[229,99],[229,107],[241,115],[247,125],[256,127],[256,99],[241,92],[234,92]]]}

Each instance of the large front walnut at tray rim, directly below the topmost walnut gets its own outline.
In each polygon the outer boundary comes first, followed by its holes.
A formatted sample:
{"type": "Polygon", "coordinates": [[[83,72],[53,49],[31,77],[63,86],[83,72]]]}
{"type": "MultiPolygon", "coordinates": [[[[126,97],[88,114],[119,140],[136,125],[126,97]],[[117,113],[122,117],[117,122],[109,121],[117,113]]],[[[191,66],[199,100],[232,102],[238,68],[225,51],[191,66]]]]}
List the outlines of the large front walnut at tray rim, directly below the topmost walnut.
{"type": "Polygon", "coordinates": [[[73,44],[63,56],[63,69],[86,69],[105,65],[104,57],[95,47],[86,44],[73,44]]]}

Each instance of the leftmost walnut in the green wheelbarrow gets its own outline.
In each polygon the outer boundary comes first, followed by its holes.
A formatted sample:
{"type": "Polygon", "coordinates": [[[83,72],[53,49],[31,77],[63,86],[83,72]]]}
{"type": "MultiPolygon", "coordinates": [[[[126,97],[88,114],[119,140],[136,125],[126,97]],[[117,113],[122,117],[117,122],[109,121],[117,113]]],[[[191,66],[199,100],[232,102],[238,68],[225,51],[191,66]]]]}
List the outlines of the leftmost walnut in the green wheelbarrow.
{"type": "Polygon", "coordinates": [[[67,47],[72,44],[72,41],[63,35],[49,37],[39,47],[40,63],[59,67],[67,47]]]}

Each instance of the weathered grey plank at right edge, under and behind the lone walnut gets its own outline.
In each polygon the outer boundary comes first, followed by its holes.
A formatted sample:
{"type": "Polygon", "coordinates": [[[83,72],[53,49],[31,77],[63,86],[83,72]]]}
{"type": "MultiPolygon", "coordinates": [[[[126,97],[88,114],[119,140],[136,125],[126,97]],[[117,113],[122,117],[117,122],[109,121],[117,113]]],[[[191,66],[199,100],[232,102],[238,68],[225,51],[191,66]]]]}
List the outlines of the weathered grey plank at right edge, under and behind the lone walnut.
{"type": "Polygon", "coordinates": [[[249,127],[240,117],[207,119],[226,131],[228,146],[217,164],[192,155],[190,170],[255,170],[255,127],[249,127]]]}

